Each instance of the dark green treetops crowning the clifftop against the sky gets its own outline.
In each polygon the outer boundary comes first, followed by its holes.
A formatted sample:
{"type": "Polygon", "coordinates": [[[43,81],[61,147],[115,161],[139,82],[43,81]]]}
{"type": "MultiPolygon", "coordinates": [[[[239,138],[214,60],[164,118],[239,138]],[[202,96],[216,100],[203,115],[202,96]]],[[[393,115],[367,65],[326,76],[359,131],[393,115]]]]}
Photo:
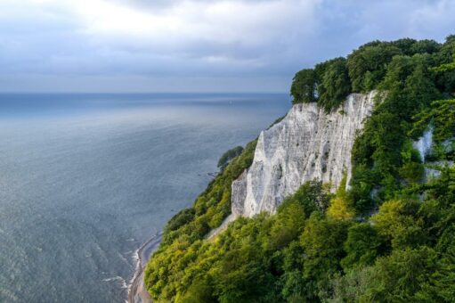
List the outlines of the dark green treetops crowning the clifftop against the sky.
{"type": "MultiPolygon", "coordinates": [[[[397,55],[413,57],[427,54],[427,66],[451,67],[455,36],[444,44],[434,40],[403,38],[392,42],[373,41],[362,45],[345,58],[317,64],[314,69],[297,72],[291,86],[293,103],[318,102],[326,111],[336,110],[350,93],[366,93],[382,84],[389,64],[397,55]]],[[[443,92],[455,92],[455,70],[433,75],[435,86],[443,92]]]]}

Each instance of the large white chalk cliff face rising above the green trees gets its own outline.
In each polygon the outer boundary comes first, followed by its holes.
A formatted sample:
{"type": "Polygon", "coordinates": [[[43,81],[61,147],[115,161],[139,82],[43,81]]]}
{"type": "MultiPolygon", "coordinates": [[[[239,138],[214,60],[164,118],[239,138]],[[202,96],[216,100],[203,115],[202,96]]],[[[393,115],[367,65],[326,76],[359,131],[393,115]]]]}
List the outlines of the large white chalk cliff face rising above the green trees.
{"type": "Polygon", "coordinates": [[[294,105],[280,123],[259,135],[253,164],[232,183],[232,214],[274,212],[306,181],[331,183],[335,191],[344,172],[349,180],[355,134],[370,116],[374,95],[350,94],[330,114],[315,103],[294,105]]]}

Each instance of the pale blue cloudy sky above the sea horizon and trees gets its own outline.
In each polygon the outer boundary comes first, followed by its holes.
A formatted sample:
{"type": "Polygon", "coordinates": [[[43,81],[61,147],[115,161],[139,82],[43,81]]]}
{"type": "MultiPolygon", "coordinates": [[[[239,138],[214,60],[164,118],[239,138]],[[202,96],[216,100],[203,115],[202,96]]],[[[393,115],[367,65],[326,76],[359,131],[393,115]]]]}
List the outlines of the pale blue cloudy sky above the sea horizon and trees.
{"type": "Polygon", "coordinates": [[[371,40],[450,34],[455,0],[0,0],[0,92],[288,93],[371,40]]]}

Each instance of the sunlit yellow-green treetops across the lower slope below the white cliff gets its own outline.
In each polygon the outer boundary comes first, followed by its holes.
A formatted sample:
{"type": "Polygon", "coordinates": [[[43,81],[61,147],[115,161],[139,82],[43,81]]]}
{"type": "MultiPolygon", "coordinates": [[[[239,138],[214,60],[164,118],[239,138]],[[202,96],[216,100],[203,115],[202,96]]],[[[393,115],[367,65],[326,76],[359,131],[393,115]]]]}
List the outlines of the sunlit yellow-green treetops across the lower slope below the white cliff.
{"type": "Polygon", "coordinates": [[[327,188],[304,184],[274,215],[158,251],[146,283],[158,302],[450,302],[455,168],[424,189],[423,202],[386,201],[370,221],[353,222],[326,216],[327,188]]]}

